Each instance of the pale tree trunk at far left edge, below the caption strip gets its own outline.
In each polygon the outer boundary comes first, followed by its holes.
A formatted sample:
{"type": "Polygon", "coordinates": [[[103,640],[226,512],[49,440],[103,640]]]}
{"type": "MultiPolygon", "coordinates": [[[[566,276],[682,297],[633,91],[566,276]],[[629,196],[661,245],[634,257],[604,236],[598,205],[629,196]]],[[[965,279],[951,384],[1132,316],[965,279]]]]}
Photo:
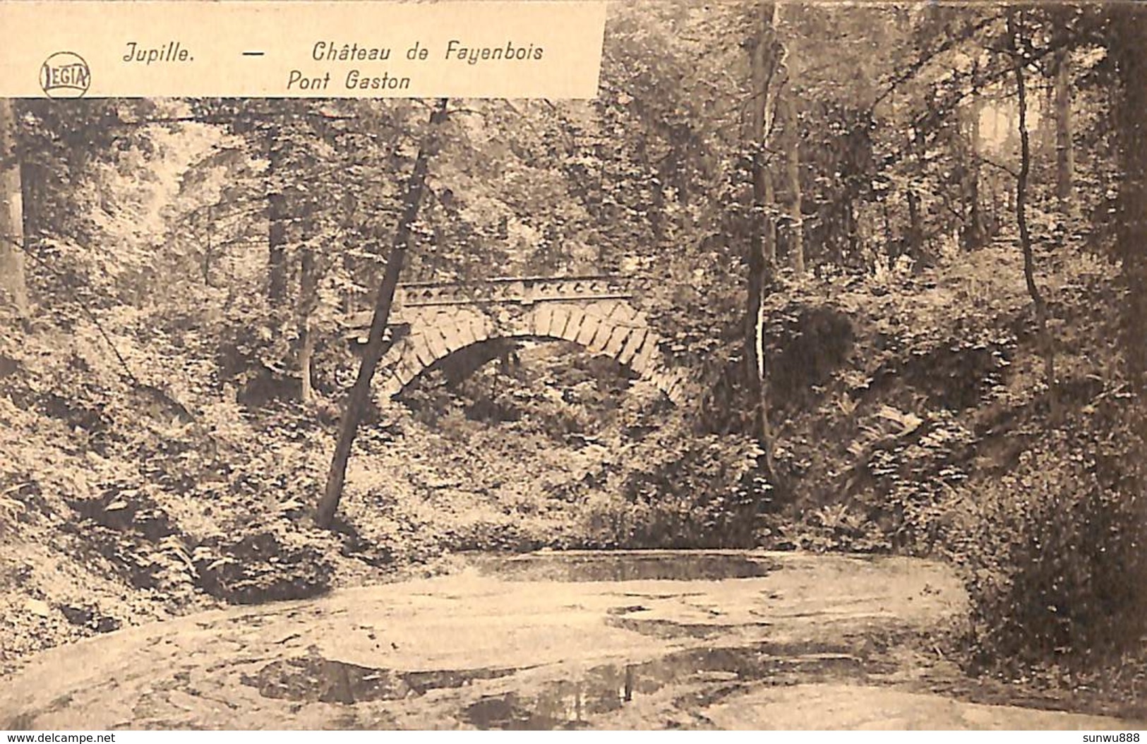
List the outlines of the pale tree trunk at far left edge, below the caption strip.
{"type": "Polygon", "coordinates": [[[11,99],[0,99],[0,289],[26,321],[28,283],[24,276],[24,195],[16,148],[16,115],[11,99]]]}

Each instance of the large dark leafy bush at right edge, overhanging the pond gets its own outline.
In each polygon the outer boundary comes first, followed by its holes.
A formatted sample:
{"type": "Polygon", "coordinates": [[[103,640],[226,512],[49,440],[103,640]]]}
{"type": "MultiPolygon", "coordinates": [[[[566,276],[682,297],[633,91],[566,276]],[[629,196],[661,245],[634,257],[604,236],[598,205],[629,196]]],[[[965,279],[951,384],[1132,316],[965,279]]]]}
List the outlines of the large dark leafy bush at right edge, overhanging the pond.
{"type": "Polygon", "coordinates": [[[1117,402],[1045,432],[965,499],[952,553],[968,574],[978,665],[1083,668],[1147,633],[1144,443],[1117,402]]]}

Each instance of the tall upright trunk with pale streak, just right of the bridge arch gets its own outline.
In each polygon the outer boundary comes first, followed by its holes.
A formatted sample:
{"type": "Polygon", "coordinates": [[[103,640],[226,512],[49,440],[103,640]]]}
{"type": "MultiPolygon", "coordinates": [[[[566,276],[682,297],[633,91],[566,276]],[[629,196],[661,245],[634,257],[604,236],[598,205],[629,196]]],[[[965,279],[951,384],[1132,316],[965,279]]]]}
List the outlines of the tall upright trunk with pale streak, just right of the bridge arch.
{"type": "Polygon", "coordinates": [[[765,363],[765,299],[777,261],[777,234],[772,219],[772,182],[767,171],[768,135],[773,127],[775,97],[773,78],[780,63],[775,36],[775,11],[772,2],[760,2],[757,36],[750,48],[752,83],[752,119],[749,126],[752,148],[752,232],[749,237],[748,307],[746,313],[746,361],[751,390],[756,398],[757,440],[764,452],[768,477],[775,473],[773,432],[768,413],[768,370],[765,363]]]}

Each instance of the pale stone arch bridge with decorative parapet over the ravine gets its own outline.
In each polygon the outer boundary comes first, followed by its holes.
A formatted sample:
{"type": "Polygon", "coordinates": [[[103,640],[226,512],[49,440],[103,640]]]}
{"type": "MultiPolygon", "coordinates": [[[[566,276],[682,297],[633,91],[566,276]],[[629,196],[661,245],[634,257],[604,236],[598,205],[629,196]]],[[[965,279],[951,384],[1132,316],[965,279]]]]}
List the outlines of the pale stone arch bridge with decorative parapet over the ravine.
{"type": "MultiPolygon", "coordinates": [[[[391,313],[393,342],[379,365],[376,385],[395,397],[439,360],[473,344],[551,338],[616,359],[679,404],[686,373],[666,363],[661,337],[632,304],[638,284],[624,276],[400,284],[391,313]]],[[[368,327],[369,318],[353,324],[368,327]]]]}

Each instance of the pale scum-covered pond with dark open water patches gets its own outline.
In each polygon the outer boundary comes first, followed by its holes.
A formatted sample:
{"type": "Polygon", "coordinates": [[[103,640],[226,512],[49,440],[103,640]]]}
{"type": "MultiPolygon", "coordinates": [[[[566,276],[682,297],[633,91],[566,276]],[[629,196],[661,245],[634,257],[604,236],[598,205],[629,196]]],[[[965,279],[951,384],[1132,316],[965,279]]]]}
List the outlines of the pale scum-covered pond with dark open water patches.
{"type": "Polygon", "coordinates": [[[717,551],[486,558],[36,657],[0,728],[1144,728],[984,705],[922,634],[941,564],[717,551]]]}

